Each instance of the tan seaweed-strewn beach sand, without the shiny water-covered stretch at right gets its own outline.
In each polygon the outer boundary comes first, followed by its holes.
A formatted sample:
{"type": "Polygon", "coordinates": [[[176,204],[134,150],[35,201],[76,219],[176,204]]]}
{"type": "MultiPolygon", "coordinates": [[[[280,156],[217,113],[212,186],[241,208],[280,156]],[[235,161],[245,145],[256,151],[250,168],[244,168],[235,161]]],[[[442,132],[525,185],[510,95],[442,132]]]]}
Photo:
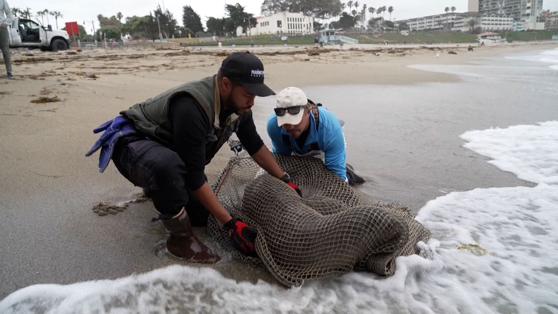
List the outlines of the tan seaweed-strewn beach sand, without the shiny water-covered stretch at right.
{"type": "MultiPolygon", "coordinates": [[[[466,45],[250,50],[264,63],[266,83],[280,91],[289,85],[453,82],[458,80],[454,75],[406,65],[463,64],[473,56],[549,45],[475,47],[474,53],[466,45]],[[450,50],[457,54],[448,54],[450,50]]],[[[160,223],[149,222],[154,213],[151,202],[129,203],[141,190],[114,166],[99,174],[98,155],[85,158],[84,154],[97,139],[94,127],[136,102],[217,73],[224,55],[232,51],[13,54],[16,79],[0,79],[0,299],[30,284],[116,278],[180,263],[157,257],[165,231],[160,223]],[[92,208],[100,202],[109,203],[97,207],[101,213],[118,214],[99,217],[92,208]]],[[[258,110],[256,102],[254,112],[258,110]]],[[[259,132],[266,136],[264,130],[259,132]]],[[[225,148],[206,167],[210,182],[229,156],[225,148]]],[[[227,254],[215,268],[227,277],[269,279],[259,268],[247,275],[252,267],[227,254]]]]}

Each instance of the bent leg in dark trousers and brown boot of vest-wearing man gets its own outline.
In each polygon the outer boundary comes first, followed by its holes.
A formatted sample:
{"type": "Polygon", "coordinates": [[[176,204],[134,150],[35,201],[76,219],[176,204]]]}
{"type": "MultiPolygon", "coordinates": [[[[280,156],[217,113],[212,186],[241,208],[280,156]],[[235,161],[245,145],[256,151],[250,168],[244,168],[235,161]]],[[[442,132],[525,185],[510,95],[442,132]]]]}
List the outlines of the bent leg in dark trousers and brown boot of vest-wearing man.
{"type": "MultiPolygon", "coordinates": [[[[195,263],[217,263],[219,255],[194,235],[185,206],[190,198],[186,191],[185,165],[176,154],[152,140],[123,137],[114,148],[113,162],[118,171],[134,185],[148,188],[155,209],[169,233],[167,251],[177,258],[195,263]]],[[[201,208],[191,208],[196,215],[201,208]]],[[[199,217],[195,216],[196,219],[199,217]]],[[[208,216],[205,216],[207,220],[208,216]]]]}

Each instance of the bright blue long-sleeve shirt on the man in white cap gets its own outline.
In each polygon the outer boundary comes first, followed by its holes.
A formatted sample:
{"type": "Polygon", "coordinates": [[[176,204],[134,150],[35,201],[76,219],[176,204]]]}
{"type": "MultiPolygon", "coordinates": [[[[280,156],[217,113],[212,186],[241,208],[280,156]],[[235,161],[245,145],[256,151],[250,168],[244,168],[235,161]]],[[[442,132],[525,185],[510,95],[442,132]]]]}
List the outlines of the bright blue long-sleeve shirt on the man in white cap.
{"type": "Polygon", "coordinates": [[[273,113],[267,120],[267,134],[271,138],[273,153],[281,155],[304,155],[311,152],[312,144],[317,143],[324,152],[324,164],[333,173],[347,180],[347,168],[345,165],[347,155],[345,154],[345,136],[339,120],[329,110],[318,107],[319,122],[316,130],[316,122],[312,111],[310,111],[310,133],[302,148],[296,143],[294,137],[289,136],[281,126],[277,126],[277,116],[273,113]],[[290,146],[283,142],[283,135],[287,135],[290,146]]]}

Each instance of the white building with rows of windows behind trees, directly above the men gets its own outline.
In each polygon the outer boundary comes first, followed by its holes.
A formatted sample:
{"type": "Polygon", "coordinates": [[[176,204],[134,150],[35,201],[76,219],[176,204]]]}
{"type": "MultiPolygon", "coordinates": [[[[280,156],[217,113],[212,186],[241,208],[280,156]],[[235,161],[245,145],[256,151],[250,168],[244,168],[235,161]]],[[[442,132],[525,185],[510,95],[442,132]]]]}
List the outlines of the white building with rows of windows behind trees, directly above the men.
{"type": "Polygon", "coordinates": [[[315,34],[314,18],[301,12],[280,12],[270,16],[256,17],[256,27],[242,33],[242,27],[237,28],[237,36],[251,36],[262,34],[315,34]]]}

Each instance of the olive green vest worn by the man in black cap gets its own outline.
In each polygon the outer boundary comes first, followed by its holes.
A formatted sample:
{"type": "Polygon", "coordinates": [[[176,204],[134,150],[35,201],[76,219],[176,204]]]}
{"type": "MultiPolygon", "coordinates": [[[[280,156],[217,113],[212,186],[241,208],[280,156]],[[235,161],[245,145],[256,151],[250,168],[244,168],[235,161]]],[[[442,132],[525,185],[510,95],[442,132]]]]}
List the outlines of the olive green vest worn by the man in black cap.
{"type": "Polygon", "coordinates": [[[132,120],[138,131],[153,140],[172,146],[174,137],[169,121],[169,103],[172,97],[180,93],[188,93],[194,97],[204,111],[209,124],[213,125],[205,142],[205,164],[209,164],[224,142],[238,130],[240,123],[239,116],[233,113],[227,117],[223,125],[219,125],[221,102],[217,75],[171,88],[158,96],[134,104],[120,114],[132,120]]]}

